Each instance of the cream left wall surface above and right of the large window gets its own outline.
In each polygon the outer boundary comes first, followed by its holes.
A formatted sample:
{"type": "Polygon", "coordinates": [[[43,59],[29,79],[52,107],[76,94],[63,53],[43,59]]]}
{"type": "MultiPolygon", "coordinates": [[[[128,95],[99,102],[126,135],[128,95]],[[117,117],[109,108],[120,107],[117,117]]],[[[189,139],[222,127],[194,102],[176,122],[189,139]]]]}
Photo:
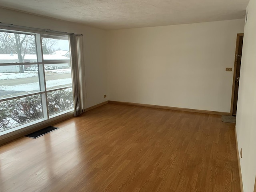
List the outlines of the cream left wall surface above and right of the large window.
{"type": "Polygon", "coordinates": [[[0,22],[61,32],[83,34],[86,69],[86,108],[108,100],[106,66],[106,31],[82,24],[56,20],[0,8],[0,22]]]}

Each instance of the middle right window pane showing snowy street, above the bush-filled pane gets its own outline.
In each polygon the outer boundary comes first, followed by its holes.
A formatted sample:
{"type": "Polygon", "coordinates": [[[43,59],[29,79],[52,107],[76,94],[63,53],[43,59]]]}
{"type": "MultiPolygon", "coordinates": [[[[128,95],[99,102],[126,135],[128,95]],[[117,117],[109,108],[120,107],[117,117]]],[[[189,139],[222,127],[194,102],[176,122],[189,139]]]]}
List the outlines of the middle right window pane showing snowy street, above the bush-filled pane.
{"type": "Polygon", "coordinates": [[[44,73],[47,90],[72,86],[69,63],[44,65],[44,73]]]}

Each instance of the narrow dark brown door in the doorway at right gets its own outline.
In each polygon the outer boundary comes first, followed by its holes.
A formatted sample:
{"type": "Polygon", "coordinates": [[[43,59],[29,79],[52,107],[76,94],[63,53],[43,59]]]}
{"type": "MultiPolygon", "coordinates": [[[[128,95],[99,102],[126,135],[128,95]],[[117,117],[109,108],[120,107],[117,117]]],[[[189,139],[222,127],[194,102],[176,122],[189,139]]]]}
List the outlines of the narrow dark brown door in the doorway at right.
{"type": "Polygon", "coordinates": [[[233,87],[232,87],[232,101],[231,101],[231,110],[230,110],[230,114],[233,116],[236,116],[236,109],[237,109],[243,39],[244,39],[244,34],[238,33],[236,36],[236,54],[235,54],[234,76],[233,76],[233,87]]]}

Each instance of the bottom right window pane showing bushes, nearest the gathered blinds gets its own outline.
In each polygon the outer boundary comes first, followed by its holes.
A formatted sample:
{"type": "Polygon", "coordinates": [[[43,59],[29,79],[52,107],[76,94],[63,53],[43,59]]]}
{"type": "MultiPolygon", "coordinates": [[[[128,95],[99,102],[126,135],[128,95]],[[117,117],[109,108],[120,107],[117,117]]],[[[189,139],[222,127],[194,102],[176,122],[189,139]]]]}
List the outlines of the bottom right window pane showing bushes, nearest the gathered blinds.
{"type": "Polygon", "coordinates": [[[47,93],[49,115],[74,107],[72,88],[47,93]]]}

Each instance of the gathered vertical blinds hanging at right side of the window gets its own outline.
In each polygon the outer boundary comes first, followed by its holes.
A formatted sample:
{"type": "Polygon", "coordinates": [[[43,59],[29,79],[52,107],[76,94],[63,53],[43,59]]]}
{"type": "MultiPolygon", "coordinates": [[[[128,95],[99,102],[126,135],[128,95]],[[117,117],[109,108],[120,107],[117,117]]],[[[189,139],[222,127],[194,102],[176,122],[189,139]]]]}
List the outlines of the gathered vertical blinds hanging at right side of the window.
{"type": "Polygon", "coordinates": [[[74,95],[74,116],[82,114],[84,110],[84,58],[83,36],[69,34],[71,69],[74,95]]]}

